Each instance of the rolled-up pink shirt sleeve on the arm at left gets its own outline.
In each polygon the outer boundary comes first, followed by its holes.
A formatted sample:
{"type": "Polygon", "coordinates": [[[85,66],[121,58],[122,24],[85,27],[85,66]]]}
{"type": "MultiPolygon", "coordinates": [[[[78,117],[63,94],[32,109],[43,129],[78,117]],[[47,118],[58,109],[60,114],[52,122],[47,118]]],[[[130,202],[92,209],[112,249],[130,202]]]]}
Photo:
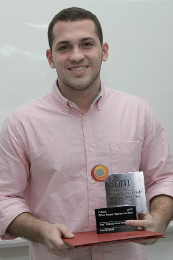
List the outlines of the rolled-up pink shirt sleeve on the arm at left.
{"type": "Polygon", "coordinates": [[[11,221],[23,212],[30,212],[25,200],[29,178],[29,161],[24,147],[9,119],[0,134],[0,235],[14,238],[6,233],[11,221]]]}

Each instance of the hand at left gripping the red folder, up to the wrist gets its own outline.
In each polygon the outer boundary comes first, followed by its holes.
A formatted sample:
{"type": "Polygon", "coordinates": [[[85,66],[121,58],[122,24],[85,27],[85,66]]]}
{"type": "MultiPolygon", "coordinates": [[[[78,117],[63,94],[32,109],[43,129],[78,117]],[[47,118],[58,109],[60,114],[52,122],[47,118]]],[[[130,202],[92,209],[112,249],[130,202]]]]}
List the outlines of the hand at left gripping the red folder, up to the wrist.
{"type": "Polygon", "coordinates": [[[63,224],[48,224],[43,231],[43,242],[48,250],[54,255],[62,255],[73,249],[65,244],[62,237],[72,238],[74,234],[63,224]]]}

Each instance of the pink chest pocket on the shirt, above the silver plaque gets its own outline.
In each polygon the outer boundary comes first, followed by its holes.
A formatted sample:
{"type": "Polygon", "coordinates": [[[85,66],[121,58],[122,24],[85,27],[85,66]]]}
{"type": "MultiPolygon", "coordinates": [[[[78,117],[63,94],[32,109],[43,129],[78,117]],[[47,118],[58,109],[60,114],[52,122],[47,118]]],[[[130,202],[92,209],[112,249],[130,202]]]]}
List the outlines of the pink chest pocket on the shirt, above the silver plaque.
{"type": "Polygon", "coordinates": [[[110,145],[112,173],[139,171],[142,143],[139,141],[112,142],[110,145]]]}

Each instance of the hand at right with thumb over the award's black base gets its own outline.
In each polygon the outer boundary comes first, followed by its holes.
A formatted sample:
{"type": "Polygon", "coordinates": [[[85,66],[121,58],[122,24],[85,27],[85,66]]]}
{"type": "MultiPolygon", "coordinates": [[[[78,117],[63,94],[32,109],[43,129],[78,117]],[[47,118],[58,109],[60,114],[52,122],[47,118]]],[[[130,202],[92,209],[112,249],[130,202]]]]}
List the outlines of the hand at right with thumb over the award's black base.
{"type": "MultiPolygon", "coordinates": [[[[138,220],[127,220],[126,225],[139,227],[142,230],[161,232],[161,233],[163,232],[163,230],[161,230],[161,227],[159,227],[159,225],[156,225],[154,218],[150,214],[139,214],[138,220]]],[[[157,242],[157,239],[143,240],[136,243],[141,245],[152,245],[155,242],[157,242]]]]}

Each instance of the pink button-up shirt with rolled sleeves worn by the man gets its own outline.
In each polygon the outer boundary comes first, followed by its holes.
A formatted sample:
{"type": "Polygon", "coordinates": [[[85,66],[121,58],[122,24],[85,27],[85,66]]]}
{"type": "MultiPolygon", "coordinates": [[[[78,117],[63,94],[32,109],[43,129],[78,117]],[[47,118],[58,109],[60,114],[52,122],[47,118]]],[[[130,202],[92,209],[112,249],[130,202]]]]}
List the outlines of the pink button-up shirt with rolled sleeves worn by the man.
{"type": "MultiPolygon", "coordinates": [[[[144,171],[147,200],[173,196],[173,158],[165,132],[141,98],[104,88],[84,114],[52,92],[17,109],[0,136],[0,234],[22,212],[72,232],[96,229],[94,210],[106,207],[105,186],[91,170],[105,165],[110,174],[144,171]]],[[[6,234],[7,236],[7,234],[6,234]]],[[[52,255],[31,243],[32,260],[144,260],[135,243],[74,249],[52,255]]]]}

